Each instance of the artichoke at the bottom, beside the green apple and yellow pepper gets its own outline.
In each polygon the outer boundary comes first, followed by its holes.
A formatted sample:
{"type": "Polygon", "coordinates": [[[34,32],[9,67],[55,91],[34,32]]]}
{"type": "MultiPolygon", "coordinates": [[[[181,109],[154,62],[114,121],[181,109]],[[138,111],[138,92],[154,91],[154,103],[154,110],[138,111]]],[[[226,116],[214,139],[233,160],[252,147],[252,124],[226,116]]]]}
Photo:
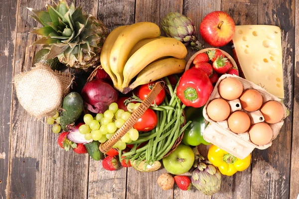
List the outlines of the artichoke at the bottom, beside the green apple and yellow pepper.
{"type": "Polygon", "coordinates": [[[199,154],[197,148],[194,148],[195,161],[192,172],[191,182],[203,194],[212,196],[220,190],[221,174],[219,170],[214,167],[210,161],[205,160],[199,154]]]}

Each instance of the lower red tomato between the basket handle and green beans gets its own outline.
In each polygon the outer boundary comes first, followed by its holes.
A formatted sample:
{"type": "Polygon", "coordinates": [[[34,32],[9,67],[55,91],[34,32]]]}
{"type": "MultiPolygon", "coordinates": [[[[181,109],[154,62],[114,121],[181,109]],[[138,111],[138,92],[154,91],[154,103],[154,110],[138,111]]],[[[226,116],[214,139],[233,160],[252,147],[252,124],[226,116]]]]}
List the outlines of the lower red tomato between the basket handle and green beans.
{"type": "Polygon", "coordinates": [[[138,131],[150,131],[157,125],[157,120],[155,112],[152,109],[147,109],[133,127],[138,131]]]}

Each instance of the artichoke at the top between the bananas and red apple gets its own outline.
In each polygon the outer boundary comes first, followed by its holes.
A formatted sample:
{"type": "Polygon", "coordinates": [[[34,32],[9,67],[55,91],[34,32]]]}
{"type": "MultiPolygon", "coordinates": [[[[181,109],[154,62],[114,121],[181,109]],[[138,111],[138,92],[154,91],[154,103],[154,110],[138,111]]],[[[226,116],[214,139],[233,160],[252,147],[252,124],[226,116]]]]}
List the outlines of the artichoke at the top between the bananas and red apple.
{"type": "Polygon", "coordinates": [[[202,44],[195,37],[193,21],[178,12],[169,12],[161,21],[161,26],[167,37],[181,41],[185,46],[191,45],[192,49],[201,50],[202,44]]]}

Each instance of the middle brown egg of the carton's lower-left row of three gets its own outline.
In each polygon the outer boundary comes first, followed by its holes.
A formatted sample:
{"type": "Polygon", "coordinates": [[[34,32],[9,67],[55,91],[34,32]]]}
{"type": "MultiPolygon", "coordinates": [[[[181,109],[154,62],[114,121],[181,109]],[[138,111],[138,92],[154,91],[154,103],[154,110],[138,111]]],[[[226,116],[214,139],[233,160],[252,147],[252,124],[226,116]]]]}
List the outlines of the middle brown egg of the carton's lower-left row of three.
{"type": "Polygon", "coordinates": [[[244,133],[250,127],[250,118],[248,114],[242,111],[233,112],[227,121],[228,127],[234,133],[244,133]]]}

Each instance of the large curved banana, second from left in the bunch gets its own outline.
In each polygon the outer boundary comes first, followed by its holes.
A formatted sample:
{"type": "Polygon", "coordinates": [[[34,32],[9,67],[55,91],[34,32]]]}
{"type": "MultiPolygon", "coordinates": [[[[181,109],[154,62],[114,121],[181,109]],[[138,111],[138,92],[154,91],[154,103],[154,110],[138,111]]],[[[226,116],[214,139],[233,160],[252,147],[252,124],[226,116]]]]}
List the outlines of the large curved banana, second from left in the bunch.
{"type": "Polygon", "coordinates": [[[159,26],[151,22],[134,23],[121,32],[110,54],[110,68],[117,77],[118,85],[123,84],[124,66],[133,46],[142,39],[154,38],[159,35],[159,26]]]}

